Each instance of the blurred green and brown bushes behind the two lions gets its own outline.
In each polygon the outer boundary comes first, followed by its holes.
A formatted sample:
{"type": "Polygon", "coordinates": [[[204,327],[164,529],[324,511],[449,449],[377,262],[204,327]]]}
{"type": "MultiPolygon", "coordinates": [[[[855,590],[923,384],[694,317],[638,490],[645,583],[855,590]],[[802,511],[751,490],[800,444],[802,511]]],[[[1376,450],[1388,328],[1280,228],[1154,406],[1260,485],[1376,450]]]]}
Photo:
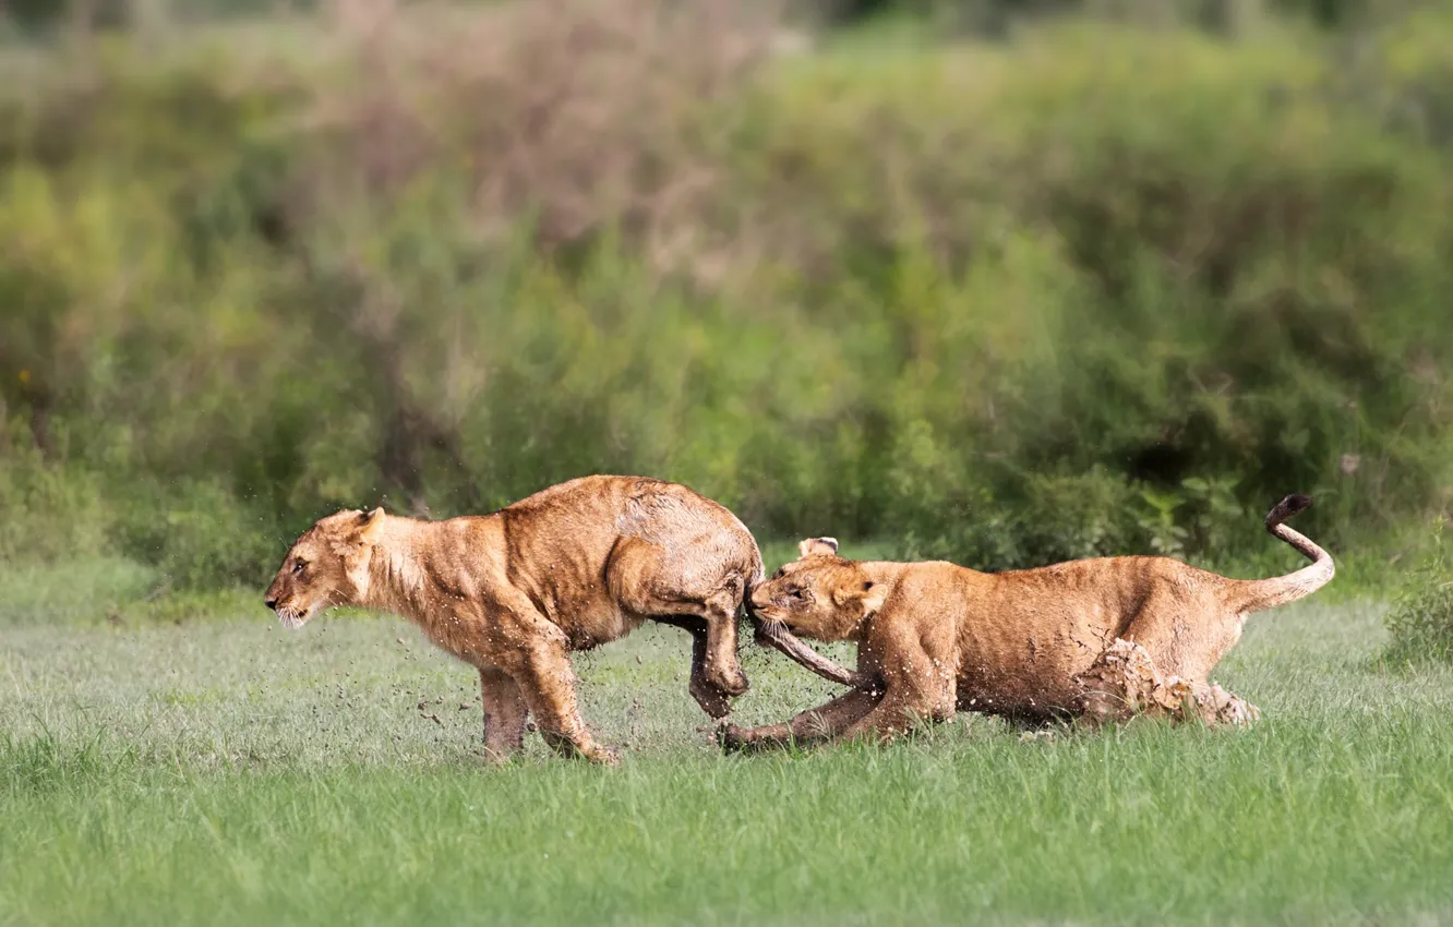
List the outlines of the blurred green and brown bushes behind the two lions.
{"type": "Polygon", "coordinates": [[[0,556],[256,584],[340,506],[612,471],[987,568],[1261,549],[1289,491],[1385,535],[1453,459],[1414,16],[783,55],[754,6],[344,3],[4,62],[0,556]]]}

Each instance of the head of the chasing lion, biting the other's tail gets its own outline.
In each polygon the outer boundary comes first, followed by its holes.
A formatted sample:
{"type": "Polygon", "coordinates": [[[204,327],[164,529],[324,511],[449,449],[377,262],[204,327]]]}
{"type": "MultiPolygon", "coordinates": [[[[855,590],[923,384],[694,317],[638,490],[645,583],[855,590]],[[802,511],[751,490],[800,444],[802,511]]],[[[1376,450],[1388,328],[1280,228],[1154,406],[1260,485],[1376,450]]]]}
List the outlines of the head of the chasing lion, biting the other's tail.
{"type": "Polygon", "coordinates": [[[753,612],[805,638],[856,638],[882,607],[888,587],[870,580],[860,564],[838,556],[833,538],[808,538],[798,545],[798,555],[753,590],[753,612]]]}

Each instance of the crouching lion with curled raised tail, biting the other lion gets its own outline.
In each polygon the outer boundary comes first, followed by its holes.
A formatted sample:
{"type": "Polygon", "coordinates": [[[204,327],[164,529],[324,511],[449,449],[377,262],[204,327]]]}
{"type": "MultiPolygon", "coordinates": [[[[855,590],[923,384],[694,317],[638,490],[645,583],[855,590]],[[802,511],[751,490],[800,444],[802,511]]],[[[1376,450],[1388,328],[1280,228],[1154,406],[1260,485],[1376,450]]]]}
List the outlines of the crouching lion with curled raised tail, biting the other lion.
{"type": "Polygon", "coordinates": [[[850,561],[831,538],[804,541],[801,558],[756,587],[748,607],[788,633],[857,641],[867,681],[788,724],[726,725],[721,742],[891,738],[956,709],[1021,721],[1101,722],[1144,711],[1245,724],[1257,711],[1207,677],[1250,613],[1332,578],[1332,558],[1282,523],[1311,503],[1289,495],[1267,514],[1267,530],[1312,561],[1270,580],[1232,580],[1167,556],[979,572],[950,562],[850,561]]]}

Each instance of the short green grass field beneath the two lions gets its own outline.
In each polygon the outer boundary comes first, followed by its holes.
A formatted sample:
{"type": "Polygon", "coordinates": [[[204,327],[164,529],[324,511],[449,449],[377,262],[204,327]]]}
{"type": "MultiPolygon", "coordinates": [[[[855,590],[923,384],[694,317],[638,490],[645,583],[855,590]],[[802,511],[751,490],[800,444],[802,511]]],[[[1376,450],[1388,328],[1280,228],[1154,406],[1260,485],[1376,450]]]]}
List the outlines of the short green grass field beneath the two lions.
{"type": "MultiPolygon", "coordinates": [[[[1379,667],[1377,604],[1252,619],[1218,674],[1251,731],[761,757],[696,731],[652,626],[577,663],[619,769],[533,735],[488,769],[474,676],[414,628],[108,620],[147,583],[0,578],[0,924],[1453,921],[1453,670],[1379,667]]],[[[744,664],[738,721],[828,695],[744,664]]]]}

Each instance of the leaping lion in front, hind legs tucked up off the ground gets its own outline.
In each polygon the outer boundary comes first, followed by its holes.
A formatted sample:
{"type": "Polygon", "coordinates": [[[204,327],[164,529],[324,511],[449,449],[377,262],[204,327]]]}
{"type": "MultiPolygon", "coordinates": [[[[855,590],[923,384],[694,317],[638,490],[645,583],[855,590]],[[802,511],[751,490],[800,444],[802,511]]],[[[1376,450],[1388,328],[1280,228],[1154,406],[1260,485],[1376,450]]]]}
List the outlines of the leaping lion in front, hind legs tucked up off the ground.
{"type": "Polygon", "coordinates": [[[715,718],[747,690],[737,619],[761,554],[725,507],[641,477],[583,477],[493,514],[418,522],[382,509],[318,520],[288,552],[267,607],[289,628],[333,606],[408,618],[479,670],[485,748],[520,748],[526,715],[562,753],[591,738],[567,654],[655,619],[692,635],[690,692],[715,718]]]}

